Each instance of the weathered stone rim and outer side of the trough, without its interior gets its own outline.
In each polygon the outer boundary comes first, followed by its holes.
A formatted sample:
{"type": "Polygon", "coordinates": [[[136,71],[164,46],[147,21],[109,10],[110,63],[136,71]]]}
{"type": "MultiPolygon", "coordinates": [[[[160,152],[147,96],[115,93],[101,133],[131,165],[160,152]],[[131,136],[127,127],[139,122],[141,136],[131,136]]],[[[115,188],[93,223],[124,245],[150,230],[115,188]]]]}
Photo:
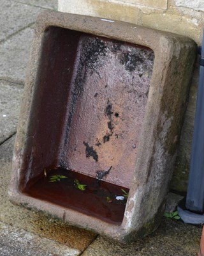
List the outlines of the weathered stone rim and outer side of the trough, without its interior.
{"type": "Polygon", "coordinates": [[[196,44],[185,36],[96,17],[53,11],[41,13],[34,30],[15,140],[9,187],[11,202],[46,212],[72,225],[122,242],[134,241],[155,230],[164,212],[195,58],[196,44]],[[19,191],[43,31],[50,26],[143,45],[154,51],[154,68],[135,173],[121,225],[112,225],[80,212],[42,202],[19,191]]]}

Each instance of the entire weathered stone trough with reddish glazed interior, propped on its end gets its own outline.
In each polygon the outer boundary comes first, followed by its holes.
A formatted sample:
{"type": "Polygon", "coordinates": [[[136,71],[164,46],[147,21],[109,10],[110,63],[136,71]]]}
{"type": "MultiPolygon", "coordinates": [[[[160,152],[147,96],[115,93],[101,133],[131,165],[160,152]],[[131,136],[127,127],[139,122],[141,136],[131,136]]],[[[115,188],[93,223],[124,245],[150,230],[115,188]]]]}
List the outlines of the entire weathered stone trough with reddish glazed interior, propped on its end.
{"type": "Polygon", "coordinates": [[[36,21],[10,200],[128,243],[164,212],[196,44],[126,22],[36,21]]]}

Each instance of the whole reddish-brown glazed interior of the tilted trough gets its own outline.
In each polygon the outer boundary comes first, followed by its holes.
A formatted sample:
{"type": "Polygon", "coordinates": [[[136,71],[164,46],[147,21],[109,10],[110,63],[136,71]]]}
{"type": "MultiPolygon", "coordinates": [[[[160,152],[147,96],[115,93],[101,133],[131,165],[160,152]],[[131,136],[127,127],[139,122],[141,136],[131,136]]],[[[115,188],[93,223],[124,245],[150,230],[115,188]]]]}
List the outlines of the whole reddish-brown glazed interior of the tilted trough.
{"type": "Polygon", "coordinates": [[[115,196],[131,186],[154,52],[63,28],[44,34],[21,189],[122,222],[126,200],[115,196]],[[50,173],[62,170],[67,178],[70,170],[82,175],[87,190],[77,191],[74,178],[71,185],[49,182],[50,173]]]}

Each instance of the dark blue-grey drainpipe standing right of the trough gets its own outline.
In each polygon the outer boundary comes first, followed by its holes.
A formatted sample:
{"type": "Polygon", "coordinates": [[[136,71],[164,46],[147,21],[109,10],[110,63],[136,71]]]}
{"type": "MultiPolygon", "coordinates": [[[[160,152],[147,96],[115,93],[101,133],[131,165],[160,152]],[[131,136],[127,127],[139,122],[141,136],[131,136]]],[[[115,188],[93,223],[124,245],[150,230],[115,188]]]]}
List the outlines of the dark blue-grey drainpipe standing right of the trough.
{"type": "Polygon", "coordinates": [[[204,223],[204,31],[201,46],[200,77],[194,121],[193,144],[186,204],[178,206],[180,218],[191,224],[204,223]]]}

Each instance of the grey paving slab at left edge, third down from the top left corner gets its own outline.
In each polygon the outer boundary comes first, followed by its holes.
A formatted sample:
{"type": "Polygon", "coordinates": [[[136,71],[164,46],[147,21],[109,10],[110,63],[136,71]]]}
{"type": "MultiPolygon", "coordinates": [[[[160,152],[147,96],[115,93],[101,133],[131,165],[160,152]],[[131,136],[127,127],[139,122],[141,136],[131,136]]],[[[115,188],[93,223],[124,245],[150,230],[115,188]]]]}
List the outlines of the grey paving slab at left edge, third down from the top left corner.
{"type": "Polygon", "coordinates": [[[23,88],[0,81],[0,144],[17,131],[23,88]]]}

